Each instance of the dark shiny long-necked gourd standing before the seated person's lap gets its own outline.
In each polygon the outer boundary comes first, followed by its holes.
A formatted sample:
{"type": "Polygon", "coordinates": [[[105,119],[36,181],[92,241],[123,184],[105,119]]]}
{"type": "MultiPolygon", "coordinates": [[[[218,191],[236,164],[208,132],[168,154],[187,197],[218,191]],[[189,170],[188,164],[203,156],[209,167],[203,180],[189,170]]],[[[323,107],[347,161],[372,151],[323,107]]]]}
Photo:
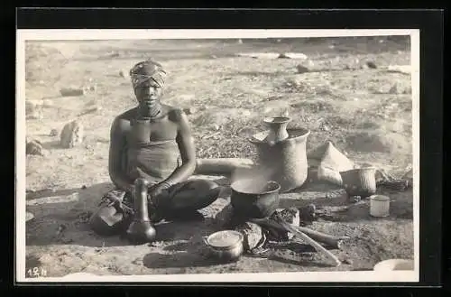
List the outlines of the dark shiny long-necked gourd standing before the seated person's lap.
{"type": "Polygon", "coordinates": [[[156,237],[147,208],[148,186],[149,181],[144,179],[136,179],[134,182],[134,218],[127,229],[127,237],[133,244],[152,242],[156,237]]]}

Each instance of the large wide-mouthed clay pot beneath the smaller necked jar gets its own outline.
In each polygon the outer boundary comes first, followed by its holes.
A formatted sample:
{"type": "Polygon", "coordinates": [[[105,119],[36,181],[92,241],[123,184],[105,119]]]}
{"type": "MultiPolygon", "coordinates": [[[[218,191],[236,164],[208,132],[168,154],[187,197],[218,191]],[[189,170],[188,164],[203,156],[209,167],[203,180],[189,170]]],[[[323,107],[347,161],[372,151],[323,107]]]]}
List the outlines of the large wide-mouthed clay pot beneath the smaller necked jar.
{"type": "Polygon", "coordinates": [[[307,180],[307,129],[287,129],[288,138],[269,144],[266,136],[272,132],[261,132],[250,139],[257,148],[257,166],[268,176],[268,181],[281,185],[281,192],[299,188],[307,180]]]}

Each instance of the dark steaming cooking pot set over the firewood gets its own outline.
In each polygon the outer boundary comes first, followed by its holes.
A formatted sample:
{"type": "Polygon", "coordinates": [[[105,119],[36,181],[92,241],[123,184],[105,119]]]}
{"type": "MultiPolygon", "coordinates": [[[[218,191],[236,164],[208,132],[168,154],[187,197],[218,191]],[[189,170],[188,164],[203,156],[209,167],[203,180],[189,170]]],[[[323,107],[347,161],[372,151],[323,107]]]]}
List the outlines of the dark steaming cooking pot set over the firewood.
{"type": "Polygon", "coordinates": [[[239,218],[268,218],[279,207],[281,185],[276,181],[234,181],[230,202],[239,218]]]}

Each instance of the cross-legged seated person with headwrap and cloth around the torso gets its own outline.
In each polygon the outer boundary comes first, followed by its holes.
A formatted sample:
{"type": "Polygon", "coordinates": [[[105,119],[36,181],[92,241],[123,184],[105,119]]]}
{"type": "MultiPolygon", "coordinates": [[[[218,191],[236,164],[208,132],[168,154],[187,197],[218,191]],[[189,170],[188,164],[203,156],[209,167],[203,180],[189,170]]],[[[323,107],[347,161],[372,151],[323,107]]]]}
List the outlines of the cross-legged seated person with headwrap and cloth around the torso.
{"type": "Polygon", "coordinates": [[[111,127],[108,171],[116,189],[106,193],[90,219],[98,234],[115,235],[128,227],[138,178],[150,182],[149,214],[154,222],[195,213],[218,197],[220,188],[214,181],[188,180],[196,169],[195,146],[187,116],[161,104],[165,77],[161,64],[152,60],[130,70],[138,107],[117,116],[111,127]]]}

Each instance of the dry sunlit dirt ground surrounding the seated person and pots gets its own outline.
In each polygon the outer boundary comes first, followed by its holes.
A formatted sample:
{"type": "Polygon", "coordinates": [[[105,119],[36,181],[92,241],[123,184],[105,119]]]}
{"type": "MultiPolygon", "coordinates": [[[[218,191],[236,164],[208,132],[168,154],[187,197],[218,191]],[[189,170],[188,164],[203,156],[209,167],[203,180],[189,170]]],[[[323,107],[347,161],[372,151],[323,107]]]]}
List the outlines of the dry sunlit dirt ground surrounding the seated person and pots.
{"type": "Polygon", "coordinates": [[[313,202],[326,210],[329,215],[310,227],[352,238],[342,250],[332,250],[345,261],[339,267],[327,265],[311,247],[293,244],[273,246],[269,258],[244,256],[229,265],[207,260],[201,237],[216,229],[212,218],[227,197],[201,210],[203,222],[157,226],[158,240],[151,245],[95,235],[87,218],[112,188],[109,128],[135,104],[130,81],[120,71],[127,73],[148,57],[169,72],[164,101],[192,108],[199,158],[253,158],[246,138],[264,129],[262,117],[288,113],[290,126],[310,129],[308,147],[330,140],[350,159],[394,176],[411,163],[410,75],[386,70],[410,65],[408,38],[30,42],[26,100],[45,104],[39,116],[27,119],[26,129],[28,137],[41,141],[45,156],[26,157],[27,210],[35,215],[26,227],[27,269],[39,266],[47,276],[262,273],[368,270],[384,259],[413,259],[411,191],[388,193],[391,216],[376,219],[369,216],[367,201],[351,204],[343,191],[321,184],[282,194],[281,207],[313,202]],[[250,51],[302,52],[308,59],[235,55],[250,51]],[[297,73],[298,64],[309,71],[297,73]],[[60,88],[68,87],[87,87],[87,93],[61,97],[60,88]],[[60,148],[59,135],[51,136],[51,130],[60,131],[73,119],[85,127],[83,144],[60,148]]]}

